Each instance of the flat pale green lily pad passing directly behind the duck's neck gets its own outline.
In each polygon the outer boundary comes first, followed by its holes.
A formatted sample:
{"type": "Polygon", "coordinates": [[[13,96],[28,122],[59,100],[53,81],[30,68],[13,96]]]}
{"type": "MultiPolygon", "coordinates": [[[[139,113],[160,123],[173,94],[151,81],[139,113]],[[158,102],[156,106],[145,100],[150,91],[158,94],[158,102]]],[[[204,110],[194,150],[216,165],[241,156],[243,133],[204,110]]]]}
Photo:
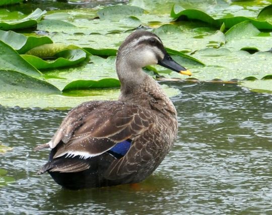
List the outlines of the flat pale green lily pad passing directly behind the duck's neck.
{"type": "MultiPolygon", "coordinates": [[[[178,89],[162,86],[169,96],[177,96],[178,89]]],[[[69,90],[62,95],[41,94],[36,92],[16,92],[5,94],[0,91],[0,100],[3,106],[19,106],[22,108],[40,107],[44,109],[70,109],[83,102],[94,100],[117,100],[120,94],[119,88],[69,90]]]]}

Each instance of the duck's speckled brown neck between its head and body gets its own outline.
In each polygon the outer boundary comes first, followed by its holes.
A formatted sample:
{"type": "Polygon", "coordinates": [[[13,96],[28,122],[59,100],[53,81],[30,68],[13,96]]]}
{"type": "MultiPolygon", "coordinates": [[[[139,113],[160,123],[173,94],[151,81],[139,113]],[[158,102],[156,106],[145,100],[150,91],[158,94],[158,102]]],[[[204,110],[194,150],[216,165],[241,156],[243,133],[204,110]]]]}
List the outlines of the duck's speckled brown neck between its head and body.
{"type": "Polygon", "coordinates": [[[142,68],[116,62],[121,82],[119,101],[141,105],[164,114],[176,116],[176,109],[160,85],[142,68]]]}

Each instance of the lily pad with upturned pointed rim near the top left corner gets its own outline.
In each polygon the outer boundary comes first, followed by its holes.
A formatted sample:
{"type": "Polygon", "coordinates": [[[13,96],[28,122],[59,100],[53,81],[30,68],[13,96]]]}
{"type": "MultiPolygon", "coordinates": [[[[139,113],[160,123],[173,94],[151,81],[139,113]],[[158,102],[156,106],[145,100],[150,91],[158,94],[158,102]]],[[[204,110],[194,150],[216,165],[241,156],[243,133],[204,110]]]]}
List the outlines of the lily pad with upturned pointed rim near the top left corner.
{"type": "Polygon", "coordinates": [[[39,20],[46,11],[36,9],[29,16],[18,20],[5,20],[0,22],[0,30],[13,30],[13,29],[25,29],[37,25],[39,20]]]}

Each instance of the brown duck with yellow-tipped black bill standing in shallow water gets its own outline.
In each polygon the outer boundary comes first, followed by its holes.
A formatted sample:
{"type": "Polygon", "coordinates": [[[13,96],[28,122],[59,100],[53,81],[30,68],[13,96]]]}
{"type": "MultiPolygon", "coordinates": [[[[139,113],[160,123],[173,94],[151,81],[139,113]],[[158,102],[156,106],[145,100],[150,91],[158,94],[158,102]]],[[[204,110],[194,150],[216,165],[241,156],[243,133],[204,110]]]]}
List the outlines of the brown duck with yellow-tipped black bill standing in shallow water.
{"type": "Polygon", "coordinates": [[[72,190],[135,184],[151,175],[171,150],[178,131],[177,111],[157,81],[143,67],[159,64],[190,76],[150,31],[132,32],[120,45],[116,72],[117,101],[89,101],[73,108],[52,139],[49,173],[72,190]]]}

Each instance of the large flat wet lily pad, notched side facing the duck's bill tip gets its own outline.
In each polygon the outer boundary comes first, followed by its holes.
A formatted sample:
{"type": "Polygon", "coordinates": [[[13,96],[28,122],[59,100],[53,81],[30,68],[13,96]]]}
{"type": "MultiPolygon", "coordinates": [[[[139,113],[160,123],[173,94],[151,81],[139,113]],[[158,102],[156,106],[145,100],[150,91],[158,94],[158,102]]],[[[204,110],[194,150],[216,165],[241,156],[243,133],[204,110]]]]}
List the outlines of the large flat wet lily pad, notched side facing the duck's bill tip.
{"type": "Polygon", "coordinates": [[[246,51],[208,48],[197,51],[193,57],[206,64],[205,67],[191,69],[192,78],[202,81],[243,80],[247,77],[261,79],[272,73],[272,54],[269,52],[249,54],[246,51]]]}

